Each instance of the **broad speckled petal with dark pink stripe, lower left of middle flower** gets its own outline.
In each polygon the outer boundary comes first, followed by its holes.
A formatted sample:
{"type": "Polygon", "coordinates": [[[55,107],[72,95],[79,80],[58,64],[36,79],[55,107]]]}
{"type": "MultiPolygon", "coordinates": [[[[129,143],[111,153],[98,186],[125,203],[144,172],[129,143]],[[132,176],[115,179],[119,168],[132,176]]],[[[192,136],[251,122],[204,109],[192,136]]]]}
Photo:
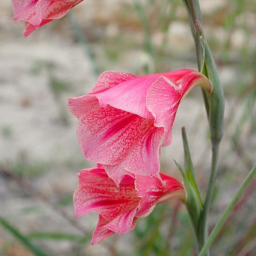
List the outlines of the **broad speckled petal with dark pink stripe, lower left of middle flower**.
{"type": "Polygon", "coordinates": [[[113,107],[101,108],[79,119],[77,138],[85,158],[114,165],[122,162],[153,120],[113,107]]]}

